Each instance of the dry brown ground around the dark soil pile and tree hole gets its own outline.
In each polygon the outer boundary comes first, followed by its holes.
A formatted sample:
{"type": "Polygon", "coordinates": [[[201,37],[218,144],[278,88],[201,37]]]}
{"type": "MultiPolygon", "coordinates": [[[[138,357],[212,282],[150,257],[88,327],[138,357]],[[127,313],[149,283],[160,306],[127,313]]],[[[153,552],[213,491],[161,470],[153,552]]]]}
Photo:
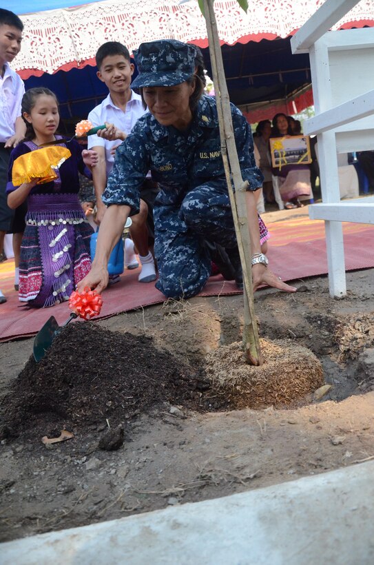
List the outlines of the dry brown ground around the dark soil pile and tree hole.
{"type": "MultiPolygon", "coordinates": [[[[260,336],[287,338],[320,360],[324,381],[332,385],[321,400],[309,394],[289,409],[209,412],[214,395],[209,407],[209,393],[197,389],[205,407],[163,397],[146,409],[124,409],[112,427],[105,411],[84,426],[62,415],[56,429],[53,413],[45,429],[34,415],[22,433],[1,442],[0,540],[257,489],[371,458],[374,373],[362,360],[374,347],[374,269],[348,274],[347,284],[342,300],[330,298],[326,277],[297,281],[304,291],[294,295],[256,293],[260,336]],[[72,426],[74,438],[41,442],[63,424],[72,426]],[[118,427],[121,447],[99,447],[118,427]]],[[[157,362],[160,381],[172,367],[189,367],[196,384],[206,354],[240,340],[242,296],[169,302],[94,323],[144,340],[145,349],[152,344],[154,355],[166,359],[157,362]]],[[[12,381],[31,352],[32,339],[0,345],[1,398],[16,386],[12,381]]],[[[135,365],[136,359],[133,372],[135,365]]],[[[196,393],[196,387],[189,390],[196,393]]],[[[3,422],[6,417],[3,411],[3,422]]]]}

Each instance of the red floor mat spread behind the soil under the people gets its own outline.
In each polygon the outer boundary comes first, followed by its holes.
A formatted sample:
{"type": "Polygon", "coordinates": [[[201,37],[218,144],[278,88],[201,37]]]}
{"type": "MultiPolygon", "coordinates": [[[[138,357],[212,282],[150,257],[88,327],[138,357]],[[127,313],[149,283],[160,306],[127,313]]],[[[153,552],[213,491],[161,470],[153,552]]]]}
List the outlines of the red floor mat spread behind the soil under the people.
{"type": "MultiPolygon", "coordinates": [[[[307,217],[279,221],[269,225],[269,263],[283,280],[304,279],[327,273],[324,223],[307,217]]],[[[374,267],[374,227],[362,224],[344,225],[346,270],[374,267]]],[[[69,316],[63,303],[52,308],[28,309],[13,289],[12,260],[0,263],[0,288],[8,302],[0,305],[0,340],[6,341],[37,333],[50,316],[59,324],[69,316]]],[[[200,296],[238,294],[234,283],[218,275],[211,277],[200,296]]],[[[103,293],[100,318],[163,302],[164,297],[153,283],[138,283],[138,271],[125,271],[121,282],[103,293]]]]}

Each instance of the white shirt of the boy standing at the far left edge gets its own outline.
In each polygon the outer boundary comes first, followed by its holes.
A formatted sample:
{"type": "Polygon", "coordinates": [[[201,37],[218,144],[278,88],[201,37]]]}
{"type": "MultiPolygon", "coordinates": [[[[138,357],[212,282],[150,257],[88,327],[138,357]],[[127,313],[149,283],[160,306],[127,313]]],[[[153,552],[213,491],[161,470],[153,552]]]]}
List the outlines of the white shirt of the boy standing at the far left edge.
{"type": "Polygon", "coordinates": [[[21,101],[25,85],[17,72],[5,63],[4,76],[0,76],[0,142],[14,135],[14,125],[21,116],[21,101]]]}

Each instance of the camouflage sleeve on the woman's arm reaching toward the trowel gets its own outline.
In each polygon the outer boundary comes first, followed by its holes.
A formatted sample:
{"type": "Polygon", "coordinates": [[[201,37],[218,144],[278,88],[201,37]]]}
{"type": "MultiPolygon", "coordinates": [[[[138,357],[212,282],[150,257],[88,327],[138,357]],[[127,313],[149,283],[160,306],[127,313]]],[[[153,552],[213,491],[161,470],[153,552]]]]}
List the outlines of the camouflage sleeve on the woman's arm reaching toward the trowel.
{"type": "Polygon", "coordinates": [[[130,216],[140,210],[140,188],[149,171],[147,136],[142,134],[142,119],[116,150],[113,170],[107,179],[103,203],[127,205],[130,216]]]}

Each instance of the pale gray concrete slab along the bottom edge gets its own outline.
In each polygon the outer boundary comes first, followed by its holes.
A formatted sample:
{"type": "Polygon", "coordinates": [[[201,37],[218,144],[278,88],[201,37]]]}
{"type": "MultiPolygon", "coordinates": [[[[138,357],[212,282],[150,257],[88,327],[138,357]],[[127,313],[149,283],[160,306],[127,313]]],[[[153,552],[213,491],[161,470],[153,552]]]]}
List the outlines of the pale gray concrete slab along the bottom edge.
{"type": "Polygon", "coordinates": [[[0,545],[1,565],[372,565],[374,462],[0,545]]]}

